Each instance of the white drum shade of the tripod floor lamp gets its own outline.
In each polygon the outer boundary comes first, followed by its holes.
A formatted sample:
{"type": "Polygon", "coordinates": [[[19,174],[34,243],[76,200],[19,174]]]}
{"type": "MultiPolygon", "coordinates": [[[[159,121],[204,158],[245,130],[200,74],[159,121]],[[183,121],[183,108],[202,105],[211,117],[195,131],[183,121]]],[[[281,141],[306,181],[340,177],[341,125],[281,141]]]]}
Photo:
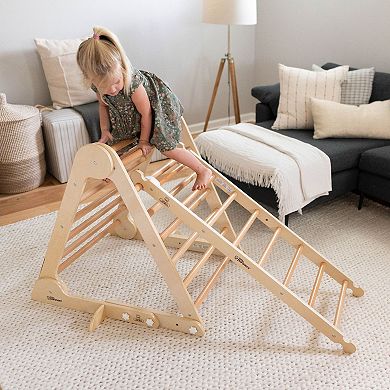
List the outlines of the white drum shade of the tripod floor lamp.
{"type": "Polygon", "coordinates": [[[256,0],[203,0],[203,22],[256,24],[256,0]]]}

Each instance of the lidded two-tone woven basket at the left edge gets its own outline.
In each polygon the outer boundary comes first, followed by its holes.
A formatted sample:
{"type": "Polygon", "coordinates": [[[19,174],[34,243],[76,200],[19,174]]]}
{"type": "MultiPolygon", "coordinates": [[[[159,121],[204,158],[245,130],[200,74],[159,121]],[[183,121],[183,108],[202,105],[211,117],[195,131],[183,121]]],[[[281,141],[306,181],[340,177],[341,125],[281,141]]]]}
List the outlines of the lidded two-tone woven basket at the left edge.
{"type": "Polygon", "coordinates": [[[8,104],[0,93],[0,193],[39,187],[46,174],[44,150],[39,110],[8,104]]]}

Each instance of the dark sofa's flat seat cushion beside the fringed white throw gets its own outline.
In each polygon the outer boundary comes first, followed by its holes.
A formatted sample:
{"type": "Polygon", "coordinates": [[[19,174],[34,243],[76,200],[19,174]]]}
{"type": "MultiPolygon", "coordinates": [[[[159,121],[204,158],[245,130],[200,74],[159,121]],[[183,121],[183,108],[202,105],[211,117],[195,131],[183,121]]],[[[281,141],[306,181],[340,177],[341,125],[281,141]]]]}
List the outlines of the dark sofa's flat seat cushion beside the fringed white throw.
{"type": "MultiPolygon", "coordinates": [[[[273,121],[257,123],[267,129],[271,129],[273,121]]],[[[276,131],[276,130],[275,130],[276,131]]],[[[363,138],[326,138],[313,139],[313,130],[277,130],[279,133],[293,137],[317,147],[326,153],[331,161],[332,173],[346,169],[357,168],[360,155],[373,148],[390,145],[390,140],[363,139],[363,138]]]]}

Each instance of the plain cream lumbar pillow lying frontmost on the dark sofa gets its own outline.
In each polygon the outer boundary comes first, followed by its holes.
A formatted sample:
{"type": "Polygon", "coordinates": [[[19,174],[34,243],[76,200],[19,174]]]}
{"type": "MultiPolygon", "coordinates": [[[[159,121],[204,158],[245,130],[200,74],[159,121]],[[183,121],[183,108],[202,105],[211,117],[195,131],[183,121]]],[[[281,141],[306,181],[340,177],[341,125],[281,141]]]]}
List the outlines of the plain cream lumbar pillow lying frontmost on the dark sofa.
{"type": "Polygon", "coordinates": [[[311,98],[313,138],[390,139],[390,100],[354,106],[311,98]]]}

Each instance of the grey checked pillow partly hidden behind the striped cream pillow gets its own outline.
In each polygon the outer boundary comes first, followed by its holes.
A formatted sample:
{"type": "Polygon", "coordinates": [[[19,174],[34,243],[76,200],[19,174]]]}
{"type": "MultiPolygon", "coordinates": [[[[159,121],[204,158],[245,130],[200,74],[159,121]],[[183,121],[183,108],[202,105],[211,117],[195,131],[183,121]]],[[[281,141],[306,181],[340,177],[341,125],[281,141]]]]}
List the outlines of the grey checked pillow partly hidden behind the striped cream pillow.
{"type": "MultiPolygon", "coordinates": [[[[326,72],[320,66],[313,64],[315,72],[326,72]]],[[[375,68],[351,70],[347,80],[341,84],[341,100],[343,104],[367,104],[370,101],[375,68]]]]}

